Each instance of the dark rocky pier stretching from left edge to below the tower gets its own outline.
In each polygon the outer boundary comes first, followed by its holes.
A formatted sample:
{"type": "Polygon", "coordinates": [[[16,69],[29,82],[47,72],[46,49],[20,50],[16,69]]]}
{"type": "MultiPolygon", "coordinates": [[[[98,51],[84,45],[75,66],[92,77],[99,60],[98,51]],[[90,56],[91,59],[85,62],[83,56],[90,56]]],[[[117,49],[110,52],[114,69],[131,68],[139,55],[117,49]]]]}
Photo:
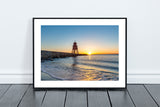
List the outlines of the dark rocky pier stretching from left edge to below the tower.
{"type": "Polygon", "coordinates": [[[72,54],[72,53],[66,53],[66,52],[41,50],[41,61],[53,60],[54,58],[66,58],[66,57],[76,57],[76,56],[85,56],[85,55],[87,54],[72,54]]]}

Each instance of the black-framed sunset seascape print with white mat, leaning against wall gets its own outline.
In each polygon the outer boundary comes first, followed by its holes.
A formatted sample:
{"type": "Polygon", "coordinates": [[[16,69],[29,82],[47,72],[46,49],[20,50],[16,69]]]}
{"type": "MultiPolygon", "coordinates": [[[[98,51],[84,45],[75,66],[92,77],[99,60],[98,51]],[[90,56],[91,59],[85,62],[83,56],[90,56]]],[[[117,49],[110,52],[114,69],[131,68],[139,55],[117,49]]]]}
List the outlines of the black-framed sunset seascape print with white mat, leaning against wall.
{"type": "Polygon", "coordinates": [[[33,18],[34,88],[126,88],[127,18],[33,18]]]}

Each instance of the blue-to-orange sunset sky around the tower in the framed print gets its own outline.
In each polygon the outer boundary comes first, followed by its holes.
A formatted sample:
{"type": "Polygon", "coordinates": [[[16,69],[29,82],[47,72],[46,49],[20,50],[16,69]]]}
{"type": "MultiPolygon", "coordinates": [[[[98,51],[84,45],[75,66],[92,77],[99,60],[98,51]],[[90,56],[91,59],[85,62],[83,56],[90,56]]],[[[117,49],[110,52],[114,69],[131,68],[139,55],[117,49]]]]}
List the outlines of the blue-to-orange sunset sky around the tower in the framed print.
{"type": "Polygon", "coordinates": [[[116,25],[43,25],[41,49],[71,53],[76,41],[79,53],[118,54],[118,34],[116,25]]]}

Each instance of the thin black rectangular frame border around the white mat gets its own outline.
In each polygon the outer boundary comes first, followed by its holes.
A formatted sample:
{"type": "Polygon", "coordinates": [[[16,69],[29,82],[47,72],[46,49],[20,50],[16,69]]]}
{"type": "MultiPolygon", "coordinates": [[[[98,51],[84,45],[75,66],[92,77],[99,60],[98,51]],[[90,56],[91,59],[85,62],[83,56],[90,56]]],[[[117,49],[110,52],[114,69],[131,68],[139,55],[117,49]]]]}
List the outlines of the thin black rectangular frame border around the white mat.
{"type": "Polygon", "coordinates": [[[69,89],[69,88],[87,88],[87,89],[99,89],[99,88],[107,88],[107,89],[126,89],[127,87],[127,18],[126,17],[34,17],[32,18],[32,35],[33,35],[33,88],[36,90],[42,89],[69,89]],[[125,20],[125,86],[124,87],[36,87],[35,86],[35,20],[37,19],[124,19],[125,20]]]}

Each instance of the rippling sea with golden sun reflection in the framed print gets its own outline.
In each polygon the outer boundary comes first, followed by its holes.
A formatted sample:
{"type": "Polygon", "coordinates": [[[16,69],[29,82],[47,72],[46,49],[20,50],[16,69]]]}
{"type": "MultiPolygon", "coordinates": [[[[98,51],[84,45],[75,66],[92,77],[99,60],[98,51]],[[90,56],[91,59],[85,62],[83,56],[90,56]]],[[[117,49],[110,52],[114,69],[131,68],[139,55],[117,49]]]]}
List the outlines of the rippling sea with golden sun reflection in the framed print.
{"type": "Polygon", "coordinates": [[[119,55],[85,55],[41,62],[41,80],[118,81],[119,55]]]}

